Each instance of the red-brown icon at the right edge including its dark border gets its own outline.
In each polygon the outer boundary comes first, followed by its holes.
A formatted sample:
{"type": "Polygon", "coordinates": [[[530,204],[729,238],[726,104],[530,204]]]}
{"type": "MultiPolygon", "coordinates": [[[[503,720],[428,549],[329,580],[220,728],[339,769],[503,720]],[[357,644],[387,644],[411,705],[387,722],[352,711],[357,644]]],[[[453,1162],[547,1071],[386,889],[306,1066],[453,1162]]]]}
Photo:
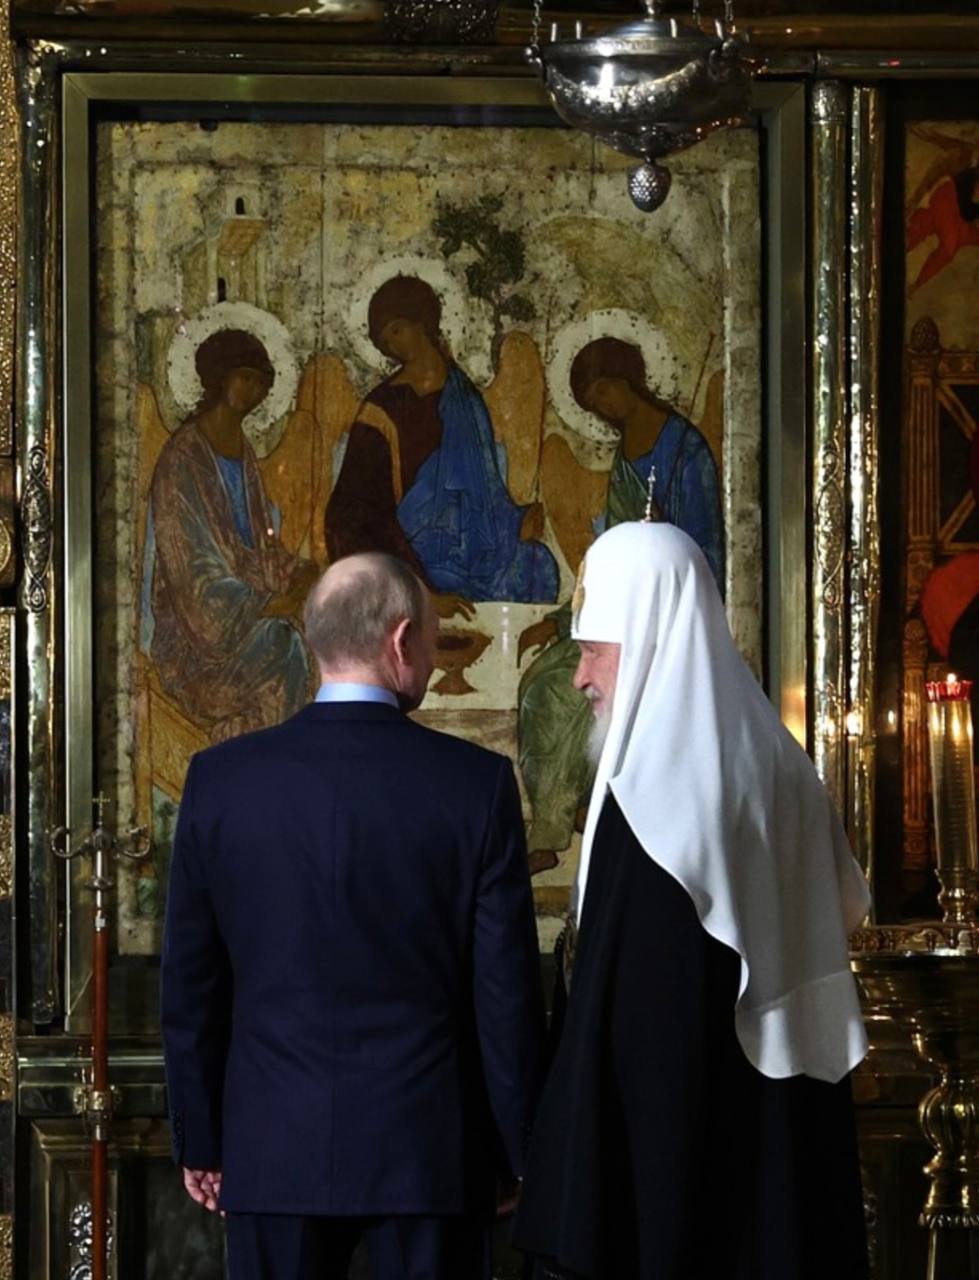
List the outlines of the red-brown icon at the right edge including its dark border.
{"type": "Polygon", "coordinates": [[[888,131],[877,824],[882,920],[939,914],[925,682],[948,673],[975,680],[979,653],[979,124],[964,118],[957,95],[907,87],[893,93],[888,131]]]}

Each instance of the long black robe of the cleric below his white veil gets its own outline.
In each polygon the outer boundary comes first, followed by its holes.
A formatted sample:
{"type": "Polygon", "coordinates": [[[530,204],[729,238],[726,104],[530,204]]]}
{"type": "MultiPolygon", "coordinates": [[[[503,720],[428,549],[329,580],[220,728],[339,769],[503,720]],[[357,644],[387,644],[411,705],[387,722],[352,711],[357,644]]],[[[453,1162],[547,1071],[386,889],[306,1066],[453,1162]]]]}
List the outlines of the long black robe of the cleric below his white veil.
{"type": "Polygon", "coordinates": [[[865,1280],[850,1082],[756,1071],[738,973],[609,796],[518,1247],[589,1280],[865,1280]]]}

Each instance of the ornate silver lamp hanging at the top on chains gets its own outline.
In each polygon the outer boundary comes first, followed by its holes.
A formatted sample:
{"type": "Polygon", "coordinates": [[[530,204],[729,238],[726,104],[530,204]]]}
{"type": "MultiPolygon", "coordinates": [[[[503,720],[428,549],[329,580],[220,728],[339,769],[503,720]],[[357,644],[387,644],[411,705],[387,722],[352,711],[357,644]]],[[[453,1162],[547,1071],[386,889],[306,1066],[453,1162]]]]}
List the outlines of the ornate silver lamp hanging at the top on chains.
{"type": "Polygon", "coordinates": [[[548,96],[567,124],[642,163],[630,172],[637,209],[651,212],[669,193],[663,156],[700,142],[715,129],[742,123],[751,96],[752,64],[735,33],[733,0],[708,35],[700,0],[691,20],[663,18],[662,0],[645,0],[646,17],[585,38],[563,40],[552,28],[540,41],[541,0],[534,4],[534,44],[548,96]]]}

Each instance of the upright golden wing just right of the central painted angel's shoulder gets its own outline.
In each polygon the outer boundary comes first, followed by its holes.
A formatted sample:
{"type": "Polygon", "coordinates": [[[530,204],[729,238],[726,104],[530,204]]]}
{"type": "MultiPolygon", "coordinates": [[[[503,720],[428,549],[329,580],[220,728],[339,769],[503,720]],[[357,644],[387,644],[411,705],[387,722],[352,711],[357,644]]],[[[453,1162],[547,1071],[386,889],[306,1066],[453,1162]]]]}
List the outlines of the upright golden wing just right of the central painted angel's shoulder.
{"type": "Polygon", "coordinates": [[[521,504],[537,497],[545,398],[546,379],[537,344],[529,333],[513,329],[500,344],[497,376],[484,399],[497,439],[507,449],[507,488],[521,504]]]}

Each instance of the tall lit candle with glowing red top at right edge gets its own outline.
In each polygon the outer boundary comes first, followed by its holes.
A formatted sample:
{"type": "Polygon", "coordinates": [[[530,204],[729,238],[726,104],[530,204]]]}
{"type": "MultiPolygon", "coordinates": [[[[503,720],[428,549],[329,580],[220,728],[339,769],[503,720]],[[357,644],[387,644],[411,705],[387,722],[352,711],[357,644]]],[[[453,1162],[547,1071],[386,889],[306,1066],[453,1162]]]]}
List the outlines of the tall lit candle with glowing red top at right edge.
{"type": "Polygon", "coordinates": [[[932,758],[939,901],[947,923],[975,918],[979,842],[975,828],[971,680],[952,672],[929,681],[928,746],[932,758]]]}

